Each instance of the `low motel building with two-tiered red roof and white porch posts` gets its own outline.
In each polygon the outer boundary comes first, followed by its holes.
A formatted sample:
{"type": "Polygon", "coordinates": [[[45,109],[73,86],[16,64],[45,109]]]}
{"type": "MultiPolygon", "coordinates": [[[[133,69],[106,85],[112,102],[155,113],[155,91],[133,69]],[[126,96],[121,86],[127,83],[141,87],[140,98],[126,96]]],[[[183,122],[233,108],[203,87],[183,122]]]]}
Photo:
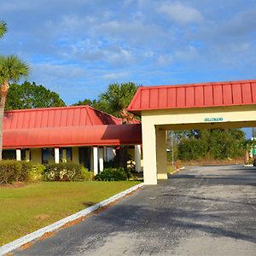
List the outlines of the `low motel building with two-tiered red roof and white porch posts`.
{"type": "Polygon", "coordinates": [[[5,111],[3,159],[48,164],[73,161],[95,174],[113,160],[122,146],[141,171],[141,124],[122,125],[90,106],[5,111]]]}

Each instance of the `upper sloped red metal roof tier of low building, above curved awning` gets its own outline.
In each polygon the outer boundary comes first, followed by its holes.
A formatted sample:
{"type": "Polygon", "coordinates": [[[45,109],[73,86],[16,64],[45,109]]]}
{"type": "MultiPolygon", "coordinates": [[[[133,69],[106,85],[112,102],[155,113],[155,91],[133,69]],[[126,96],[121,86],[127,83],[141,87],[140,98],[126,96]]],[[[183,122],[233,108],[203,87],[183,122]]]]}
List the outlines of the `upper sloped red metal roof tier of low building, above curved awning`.
{"type": "Polygon", "coordinates": [[[118,125],[120,120],[90,106],[34,108],[4,112],[3,130],[84,125],[118,125]]]}

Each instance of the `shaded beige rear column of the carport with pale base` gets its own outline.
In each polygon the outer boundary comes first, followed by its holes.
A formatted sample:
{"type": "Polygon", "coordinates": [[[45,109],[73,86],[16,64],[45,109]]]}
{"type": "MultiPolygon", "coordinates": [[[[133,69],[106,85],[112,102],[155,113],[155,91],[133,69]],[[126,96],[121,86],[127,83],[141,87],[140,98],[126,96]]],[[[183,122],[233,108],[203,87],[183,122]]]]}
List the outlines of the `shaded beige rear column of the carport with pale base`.
{"type": "Polygon", "coordinates": [[[166,131],[156,131],[157,178],[167,179],[166,131]]]}

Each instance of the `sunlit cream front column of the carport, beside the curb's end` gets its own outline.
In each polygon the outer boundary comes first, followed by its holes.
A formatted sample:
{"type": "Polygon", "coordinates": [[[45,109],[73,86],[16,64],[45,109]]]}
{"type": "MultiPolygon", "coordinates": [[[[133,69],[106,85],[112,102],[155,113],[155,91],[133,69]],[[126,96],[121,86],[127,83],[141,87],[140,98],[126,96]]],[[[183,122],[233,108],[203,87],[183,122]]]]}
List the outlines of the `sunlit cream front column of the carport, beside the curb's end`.
{"type": "Polygon", "coordinates": [[[143,125],[143,177],[146,185],[157,184],[156,146],[154,125],[142,122],[143,125]]]}

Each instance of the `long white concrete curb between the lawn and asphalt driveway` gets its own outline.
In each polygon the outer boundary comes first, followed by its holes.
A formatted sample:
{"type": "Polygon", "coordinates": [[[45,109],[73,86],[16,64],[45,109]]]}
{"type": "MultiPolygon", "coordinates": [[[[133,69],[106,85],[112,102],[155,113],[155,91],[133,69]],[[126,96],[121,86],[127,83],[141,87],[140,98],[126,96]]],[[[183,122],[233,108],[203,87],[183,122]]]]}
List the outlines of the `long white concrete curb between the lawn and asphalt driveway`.
{"type": "Polygon", "coordinates": [[[49,224],[48,226],[46,226],[40,230],[36,230],[30,234],[27,234],[26,236],[22,236],[15,241],[11,241],[11,242],[3,245],[2,247],[0,247],[0,255],[4,255],[6,253],[14,251],[15,249],[26,244],[27,242],[34,241],[34,240],[38,239],[39,237],[44,236],[45,233],[58,230],[61,228],[61,226],[65,225],[73,220],[76,220],[78,218],[85,217],[86,215],[90,214],[91,212],[95,212],[97,209],[105,207],[108,204],[112,203],[113,201],[117,201],[120,198],[124,197],[125,195],[130,194],[131,192],[133,192],[139,188],[142,188],[142,187],[143,187],[143,183],[139,183],[139,184],[131,187],[130,189],[126,189],[125,191],[122,191],[119,194],[113,195],[104,201],[100,201],[100,202],[96,203],[96,205],[94,205],[94,206],[91,206],[82,211],[76,212],[73,215],[68,216],[67,218],[62,218],[61,220],[59,220],[53,224],[49,224]]]}

